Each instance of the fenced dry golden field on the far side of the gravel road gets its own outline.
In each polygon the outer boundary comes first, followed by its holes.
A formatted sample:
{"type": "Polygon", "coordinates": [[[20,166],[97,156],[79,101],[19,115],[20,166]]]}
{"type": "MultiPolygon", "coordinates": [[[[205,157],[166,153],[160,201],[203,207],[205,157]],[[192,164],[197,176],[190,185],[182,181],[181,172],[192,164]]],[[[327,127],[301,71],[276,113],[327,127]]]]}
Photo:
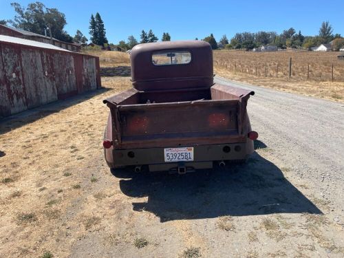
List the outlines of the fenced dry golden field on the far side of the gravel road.
{"type": "Polygon", "coordinates": [[[338,52],[255,53],[222,50],[214,52],[214,69],[217,75],[231,80],[342,102],[344,61],[338,61],[337,55],[338,52]],[[292,78],[288,78],[290,57],[292,57],[292,78]],[[334,64],[333,83],[332,63],[334,64]],[[309,79],[308,64],[310,64],[309,79]]]}

